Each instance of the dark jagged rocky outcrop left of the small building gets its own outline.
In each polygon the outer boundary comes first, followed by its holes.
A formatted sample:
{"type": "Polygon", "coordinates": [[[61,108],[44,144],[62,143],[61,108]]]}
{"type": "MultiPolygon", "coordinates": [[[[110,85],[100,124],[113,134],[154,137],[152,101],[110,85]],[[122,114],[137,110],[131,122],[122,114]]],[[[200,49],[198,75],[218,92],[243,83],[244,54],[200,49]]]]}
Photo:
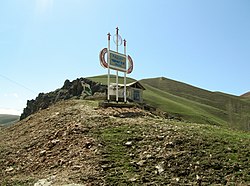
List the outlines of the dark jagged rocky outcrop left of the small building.
{"type": "Polygon", "coordinates": [[[105,96],[107,87],[100,83],[91,81],[86,78],[78,78],[72,82],[66,80],[62,88],[49,93],[40,93],[36,99],[28,100],[27,106],[21,114],[20,120],[37,112],[38,110],[46,109],[50,105],[71,98],[86,99],[105,96]]]}

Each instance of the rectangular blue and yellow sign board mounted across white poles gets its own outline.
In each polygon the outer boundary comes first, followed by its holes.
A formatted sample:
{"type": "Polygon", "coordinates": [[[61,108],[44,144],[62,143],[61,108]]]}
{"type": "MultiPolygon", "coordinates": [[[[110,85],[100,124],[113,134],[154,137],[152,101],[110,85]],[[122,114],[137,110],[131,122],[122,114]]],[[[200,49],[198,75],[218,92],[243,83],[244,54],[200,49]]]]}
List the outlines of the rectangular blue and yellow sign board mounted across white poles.
{"type": "Polygon", "coordinates": [[[114,52],[109,50],[109,64],[110,68],[122,72],[127,71],[126,67],[126,55],[120,54],[118,52],[114,52]]]}

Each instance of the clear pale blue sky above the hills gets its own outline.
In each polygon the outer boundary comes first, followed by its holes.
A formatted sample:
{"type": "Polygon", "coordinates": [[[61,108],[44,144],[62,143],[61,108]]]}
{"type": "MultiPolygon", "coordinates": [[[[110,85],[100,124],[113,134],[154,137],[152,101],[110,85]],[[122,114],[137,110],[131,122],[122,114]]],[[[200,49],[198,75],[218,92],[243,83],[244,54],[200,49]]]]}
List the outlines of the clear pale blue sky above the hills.
{"type": "Polygon", "coordinates": [[[20,114],[66,79],[106,74],[99,52],[116,27],[134,61],[129,77],[241,95],[249,10],[249,0],[0,0],[0,113],[20,114]]]}

